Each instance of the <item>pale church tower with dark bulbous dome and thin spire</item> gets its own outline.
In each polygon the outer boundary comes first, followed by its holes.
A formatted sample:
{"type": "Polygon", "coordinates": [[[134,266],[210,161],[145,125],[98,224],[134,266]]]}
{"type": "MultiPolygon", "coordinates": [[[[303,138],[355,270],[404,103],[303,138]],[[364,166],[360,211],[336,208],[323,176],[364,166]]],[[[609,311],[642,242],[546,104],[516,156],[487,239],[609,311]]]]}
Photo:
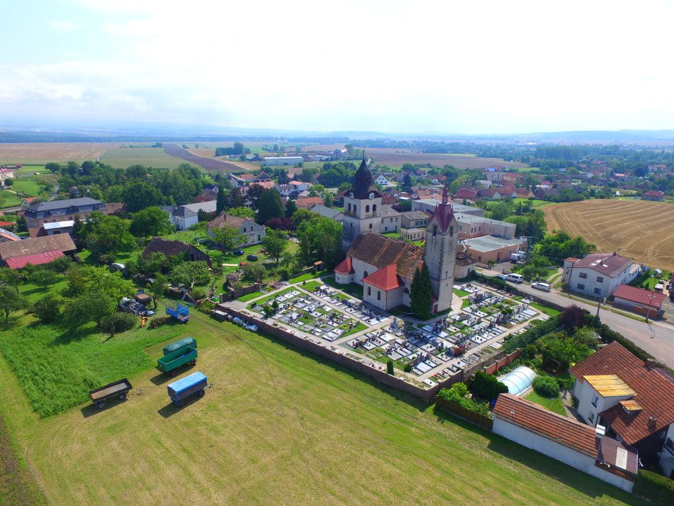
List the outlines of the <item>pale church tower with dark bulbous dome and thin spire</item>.
{"type": "Polygon", "coordinates": [[[348,250],[358,234],[382,233],[382,194],[372,181],[365,159],[354,176],[354,185],[344,196],[342,245],[348,250]]]}

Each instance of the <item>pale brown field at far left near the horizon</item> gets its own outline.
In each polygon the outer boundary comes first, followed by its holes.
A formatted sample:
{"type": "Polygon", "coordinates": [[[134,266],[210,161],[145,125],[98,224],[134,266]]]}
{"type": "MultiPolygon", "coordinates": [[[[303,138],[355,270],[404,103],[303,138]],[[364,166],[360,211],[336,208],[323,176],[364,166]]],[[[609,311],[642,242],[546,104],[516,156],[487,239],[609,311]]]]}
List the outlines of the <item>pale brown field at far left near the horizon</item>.
{"type": "Polygon", "coordinates": [[[0,164],[24,163],[44,165],[50,161],[65,163],[99,158],[119,143],[6,143],[0,144],[0,164]]]}

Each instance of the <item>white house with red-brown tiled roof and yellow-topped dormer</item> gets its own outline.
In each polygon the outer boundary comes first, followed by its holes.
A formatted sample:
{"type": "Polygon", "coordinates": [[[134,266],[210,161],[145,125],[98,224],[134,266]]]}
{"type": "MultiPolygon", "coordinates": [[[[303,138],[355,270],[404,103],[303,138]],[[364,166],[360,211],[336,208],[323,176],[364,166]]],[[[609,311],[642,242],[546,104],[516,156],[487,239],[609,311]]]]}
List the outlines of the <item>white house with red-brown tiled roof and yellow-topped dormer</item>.
{"type": "Polygon", "coordinates": [[[639,450],[644,463],[674,471],[674,377],[613,342],[569,369],[578,414],[639,450]]]}

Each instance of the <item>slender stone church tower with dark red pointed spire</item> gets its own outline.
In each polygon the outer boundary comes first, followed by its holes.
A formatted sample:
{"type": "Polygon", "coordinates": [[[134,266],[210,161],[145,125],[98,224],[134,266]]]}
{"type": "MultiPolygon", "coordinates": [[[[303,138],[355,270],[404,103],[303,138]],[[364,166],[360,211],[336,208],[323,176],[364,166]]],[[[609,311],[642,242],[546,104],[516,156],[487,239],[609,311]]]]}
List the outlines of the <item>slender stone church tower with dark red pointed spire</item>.
{"type": "Polygon", "coordinates": [[[442,312],[451,307],[454,285],[454,264],[458,226],[447,196],[447,185],[442,192],[442,202],[436,206],[426,227],[424,261],[431,274],[433,294],[438,298],[433,304],[433,312],[442,312]]]}

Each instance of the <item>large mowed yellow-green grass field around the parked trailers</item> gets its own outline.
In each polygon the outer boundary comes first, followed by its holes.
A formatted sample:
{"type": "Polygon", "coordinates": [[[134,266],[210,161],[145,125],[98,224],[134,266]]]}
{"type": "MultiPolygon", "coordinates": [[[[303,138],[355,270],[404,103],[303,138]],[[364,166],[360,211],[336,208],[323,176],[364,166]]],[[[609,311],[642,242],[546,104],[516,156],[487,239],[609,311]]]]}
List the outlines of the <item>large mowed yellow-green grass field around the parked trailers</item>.
{"type": "Polygon", "coordinates": [[[280,341],[200,313],[178,328],[199,351],[181,375],[213,384],[183,409],[148,368],[123,403],[40,419],[0,356],[0,410],[49,504],[644,504],[280,341]]]}

